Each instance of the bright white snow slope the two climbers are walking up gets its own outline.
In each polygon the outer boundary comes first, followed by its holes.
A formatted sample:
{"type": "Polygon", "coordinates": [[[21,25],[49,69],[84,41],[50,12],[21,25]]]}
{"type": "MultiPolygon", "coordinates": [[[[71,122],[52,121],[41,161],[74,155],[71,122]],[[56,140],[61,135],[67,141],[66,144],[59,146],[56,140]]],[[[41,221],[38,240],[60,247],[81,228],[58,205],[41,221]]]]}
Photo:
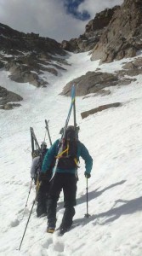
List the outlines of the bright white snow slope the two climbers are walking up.
{"type": "MultiPolygon", "coordinates": [[[[2,256],[141,256],[142,255],[142,76],[130,85],[109,87],[111,95],[77,97],[79,138],[94,158],[92,177],[88,180],[88,212],[86,213],[86,179],[81,160],[77,189],[74,228],[59,237],[49,235],[46,218],[36,217],[34,207],[22,247],[21,237],[35,197],[31,189],[24,219],[23,211],[31,177],[31,137],[33,126],[39,143],[45,135],[44,119],[49,119],[52,140],[65,125],[70,98],[60,96],[63,86],[78,76],[94,71],[99,61],[89,61],[88,53],[71,54],[71,66],[52,85],[37,89],[31,84],[18,84],[0,71],[0,84],[24,97],[22,107],[0,110],[0,255],[2,256]],[[101,104],[122,102],[120,108],[81,119],[80,113],[101,104]],[[77,225],[76,225],[77,224],[77,225]]],[[[126,60],[123,60],[126,62],[126,60]]],[[[127,60],[128,61],[128,60],[127,60]]],[[[122,61],[99,66],[102,71],[122,68],[122,61]]],[[[46,74],[47,75],[47,74],[46,74]]],[[[72,122],[72,119],[71,119],[72,122]]],[[[71,124],[70,122],[70,124],[71,124]]],[[[48,137],[46,139],[48,142],[48,137]]],[[[57,211],[60,226],[63,195],[57,211]]]]}

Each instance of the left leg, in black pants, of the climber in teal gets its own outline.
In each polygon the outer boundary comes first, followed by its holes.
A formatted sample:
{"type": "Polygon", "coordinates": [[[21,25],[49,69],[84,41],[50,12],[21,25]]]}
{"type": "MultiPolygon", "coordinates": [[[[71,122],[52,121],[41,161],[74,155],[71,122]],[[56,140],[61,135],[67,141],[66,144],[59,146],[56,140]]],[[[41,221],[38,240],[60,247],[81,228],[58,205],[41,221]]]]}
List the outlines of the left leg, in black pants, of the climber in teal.
{"type": "Polygon", "coordinates": [[[48,230],[55,229],[56,207],[57,207],[57,201],[60,198],[61,187],[62,187],[62,179],[60,177],[60,173],[56,173],[53,181],[50,184],[49,193],[48,193],[48,206],[47,206],[48,230]]]}

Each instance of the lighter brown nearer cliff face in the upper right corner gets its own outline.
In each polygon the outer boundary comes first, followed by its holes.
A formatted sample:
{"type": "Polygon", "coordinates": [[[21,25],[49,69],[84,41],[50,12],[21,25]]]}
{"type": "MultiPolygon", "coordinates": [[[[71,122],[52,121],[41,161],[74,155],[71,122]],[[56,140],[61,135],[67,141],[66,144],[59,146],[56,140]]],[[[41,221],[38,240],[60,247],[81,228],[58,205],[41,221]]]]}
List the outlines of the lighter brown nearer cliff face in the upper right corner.
{"type": "Polygon", "coordinates": [[[111,62],[133,57],[142,48],[142,1],[124,0],[92,51],[91,60],[111,62]]]}

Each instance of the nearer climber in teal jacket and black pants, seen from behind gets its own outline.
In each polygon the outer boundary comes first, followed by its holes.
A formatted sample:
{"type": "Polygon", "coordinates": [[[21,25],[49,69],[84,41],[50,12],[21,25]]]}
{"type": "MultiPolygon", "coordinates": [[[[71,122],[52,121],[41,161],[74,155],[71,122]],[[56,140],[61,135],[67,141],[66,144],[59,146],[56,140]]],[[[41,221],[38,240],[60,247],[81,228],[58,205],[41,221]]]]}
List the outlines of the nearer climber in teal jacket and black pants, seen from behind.
{"type": "MultiPolygon", "coordinates": [[[[60,191],[64,193],[65,212],[60,224],[60,235],[63,235],[71,228],[72,218],[75,215],[74,206],[76,206],[77,194],[77,168],[79,166],[79,157],[85,161],[85,177],[91,177],[90,172],[93,166],[93,159],[88,153],[88,149],[77,140],[77,134],[74,126],[68,126],[65,131],[65,140],[63,142],[62,152],[59,154],[60,140],[57,140],[43,160],[40,180],[42,181],[48,174],[51,166],[58,158],[58,165],[54,177],[50,183],[48,193],[48,227],[47,232],[53,233],[56,225],[56,207],[60,198],[60,191]]],[[[54,168],[53,168],[54,169],[54,168]]]]}

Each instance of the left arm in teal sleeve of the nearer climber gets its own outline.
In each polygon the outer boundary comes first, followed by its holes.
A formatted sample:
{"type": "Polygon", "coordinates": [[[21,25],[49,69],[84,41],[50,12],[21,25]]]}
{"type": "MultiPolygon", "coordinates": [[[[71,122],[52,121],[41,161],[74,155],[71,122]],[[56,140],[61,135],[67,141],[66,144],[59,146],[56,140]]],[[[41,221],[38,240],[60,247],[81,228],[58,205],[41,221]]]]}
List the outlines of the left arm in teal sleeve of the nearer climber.
{"type": "Polygon", "coordinates": [[[51,146],[51,148],[48,149],[47,154],[45,154],[44,159],[43,159],[43,165],[42,165],[42,172],[45,173],[47,172],[53,161],[54,161],[54,157],[56,156],[57,149],[58,149],[58,144],[59,144],[59,140],[55,141],[55,143],[51,146]]]}

